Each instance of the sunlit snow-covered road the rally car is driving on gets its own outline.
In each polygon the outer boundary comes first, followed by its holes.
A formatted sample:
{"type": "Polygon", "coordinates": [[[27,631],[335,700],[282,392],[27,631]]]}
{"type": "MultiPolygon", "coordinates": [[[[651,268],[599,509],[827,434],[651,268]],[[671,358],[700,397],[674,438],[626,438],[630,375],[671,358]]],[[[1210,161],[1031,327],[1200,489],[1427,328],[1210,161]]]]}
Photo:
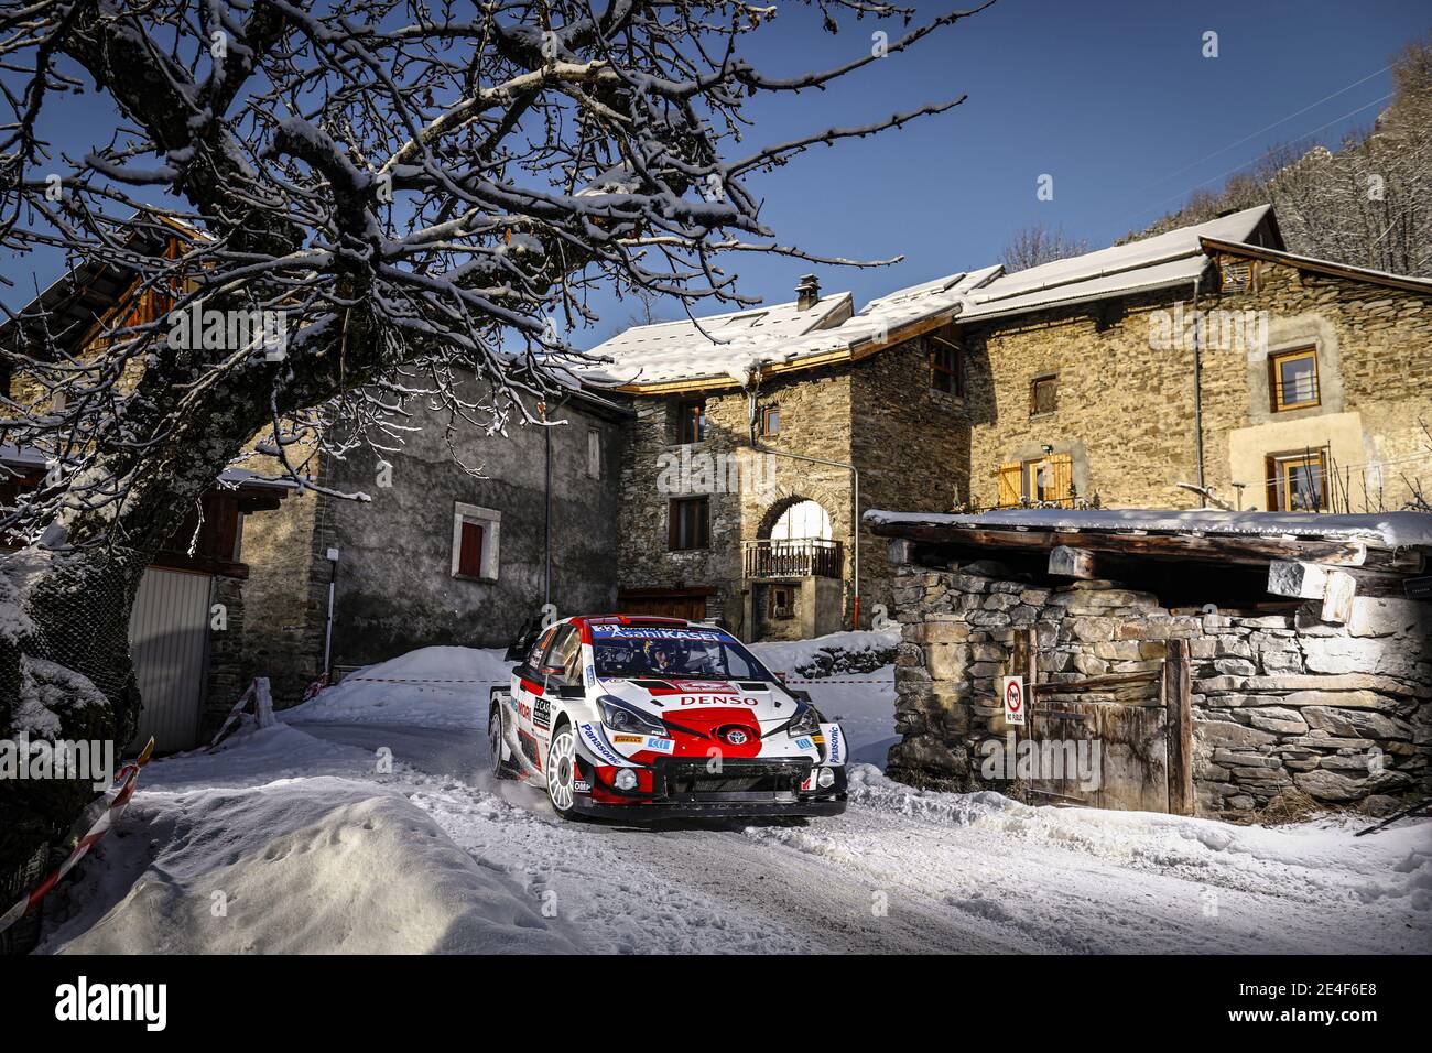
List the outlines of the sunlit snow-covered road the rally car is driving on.
{"type": "Polygon", "coordinates": [[[1032,809],[995,795],[918,794],[868,768],[839,818],[569,824],[537,791],[478,774],[485,742],[475,735],[463,756],[451,736],[430,732],[304,729],[388,746],[414,804],[458,845],[518,875],[534,900],[554,893],[558,914],[571,905],[581,943],[603,950],[1429,950],[1428,890],[1399,883],[1432,875],[1426,825],[1419,862],[1405,831],[1353,841],[1342,827],[1319,837],[1032,809]],[[1386,885],[1363,870],[1379,860],[1386,885]],[[1409,862],[1421,875],[1396,871],[1409,862]]]}

